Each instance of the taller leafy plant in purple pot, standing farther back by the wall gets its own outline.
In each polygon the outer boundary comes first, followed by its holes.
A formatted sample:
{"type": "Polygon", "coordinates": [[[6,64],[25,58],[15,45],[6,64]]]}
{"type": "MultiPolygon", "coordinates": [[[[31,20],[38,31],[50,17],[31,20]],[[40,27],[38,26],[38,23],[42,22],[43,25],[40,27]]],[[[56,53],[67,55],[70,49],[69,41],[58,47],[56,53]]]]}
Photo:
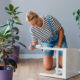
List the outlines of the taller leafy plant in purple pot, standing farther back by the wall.
{"type": "Polygon", "coordinates": [[[19,41],[19,29],[16,27],[16,25],[22,25],[18,14],[21,12],[17,11],[19,7],[14,7],[12,4],[9,4],[8,7],[5,7],[5,11],[10,15],[10,19],[7,20],[7,23],[5,25],[2,25],[1,27],[5,28],[4,31],[11,32],[12,34],[9,37],[9,42],[11,42],[11,45],[14,46],[13,49],[13,56],[9,55],[9,58],[14,59],[16,62],[18,62],[19,59],[19,49],[20,47],[16,45],[16,43],[21,44],[22,46],[26,47],[23,43],[18,42],[19,41]]]}

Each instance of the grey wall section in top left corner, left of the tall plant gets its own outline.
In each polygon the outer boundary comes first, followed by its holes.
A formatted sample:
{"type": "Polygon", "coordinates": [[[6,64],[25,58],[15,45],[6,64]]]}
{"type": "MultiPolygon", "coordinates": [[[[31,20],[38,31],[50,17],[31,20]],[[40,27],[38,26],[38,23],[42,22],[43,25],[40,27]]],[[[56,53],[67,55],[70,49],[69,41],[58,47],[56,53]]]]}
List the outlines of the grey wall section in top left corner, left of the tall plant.
{"type": "Polygon", "coordinates": [[[9,15],[5,12],[5,6],[8,6],[10,0],[0,0],[0,25],[6,23],[6,20],[9,18],[9,15]]]}

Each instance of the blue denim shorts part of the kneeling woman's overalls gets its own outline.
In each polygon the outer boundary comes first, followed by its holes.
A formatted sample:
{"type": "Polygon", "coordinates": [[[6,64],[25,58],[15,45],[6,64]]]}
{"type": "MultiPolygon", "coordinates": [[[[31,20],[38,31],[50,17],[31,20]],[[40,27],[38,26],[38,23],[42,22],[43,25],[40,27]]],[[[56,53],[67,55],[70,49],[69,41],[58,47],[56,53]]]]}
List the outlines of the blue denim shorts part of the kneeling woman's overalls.
{"type": "MultiPolygon", "coordinates": [[[[56,41],[53,41],[53,42],[49,42],[49,43],[41,41],[41,45],[42,45],[42,47],[52,47],[53,48],[54,46],[56,46],[58,44],[58,40],[59,39],[57,39],[56,41]]],[[[67,48],[67,42],[66,42],[65,36],[63,38],[61,48],[67,48]]],[[[46,50],[46,51],[43,52],[43,55],[52,55],[53,56],[54,51],[53,50],[46,50]]],[[[59,51],[59,56],[63,56],[62,51],[59,51]]]]}

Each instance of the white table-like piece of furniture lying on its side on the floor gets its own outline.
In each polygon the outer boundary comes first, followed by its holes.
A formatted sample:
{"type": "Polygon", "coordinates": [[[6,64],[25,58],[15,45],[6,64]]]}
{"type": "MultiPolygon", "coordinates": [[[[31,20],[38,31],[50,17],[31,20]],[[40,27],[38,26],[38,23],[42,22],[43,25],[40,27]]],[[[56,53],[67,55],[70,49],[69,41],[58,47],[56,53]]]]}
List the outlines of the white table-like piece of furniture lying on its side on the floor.
{"type": "Polygon", "coordinates": [[[80,74],[80,51],[75,48],[49,48],[49,47],[41,47],[40,45],[36,45],[38,49],[44,50],[56,50],[56,73],[47,74],[40,73],[41,76],[54,77],[54,78],[62,78],[68,79],[75,75],[80,74]],[[58,51],[63,52],[62,59],[62,68],[58,66],[58,51]]]}

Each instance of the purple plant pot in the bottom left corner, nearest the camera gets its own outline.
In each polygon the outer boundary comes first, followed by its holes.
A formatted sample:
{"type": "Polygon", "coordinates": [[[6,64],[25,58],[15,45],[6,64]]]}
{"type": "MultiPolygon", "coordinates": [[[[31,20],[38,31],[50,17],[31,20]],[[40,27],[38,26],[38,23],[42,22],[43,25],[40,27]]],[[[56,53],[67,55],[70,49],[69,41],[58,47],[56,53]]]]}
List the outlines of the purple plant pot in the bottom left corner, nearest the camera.
{"type": "Polygon", "coordinates": [[[12,80],[13,78],[13,68],[10,66],[0,66],[0,80],[12,80]]]}

